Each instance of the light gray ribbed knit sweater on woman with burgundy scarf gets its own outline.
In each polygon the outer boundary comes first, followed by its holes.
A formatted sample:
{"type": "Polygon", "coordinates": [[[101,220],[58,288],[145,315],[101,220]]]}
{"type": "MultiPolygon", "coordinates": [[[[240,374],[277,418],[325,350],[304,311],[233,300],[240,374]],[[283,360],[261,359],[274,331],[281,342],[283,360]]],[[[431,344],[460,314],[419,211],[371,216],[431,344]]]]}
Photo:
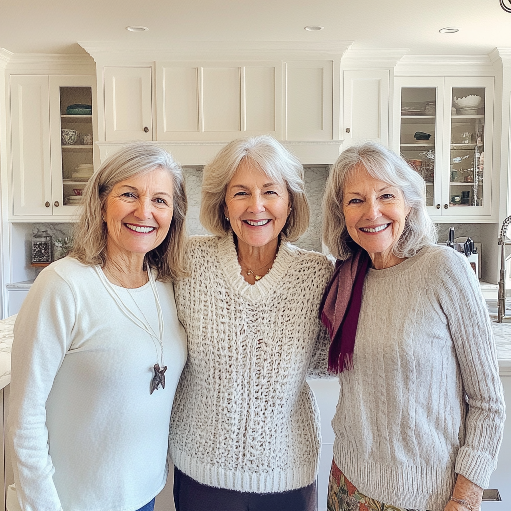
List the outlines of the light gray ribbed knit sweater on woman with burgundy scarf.
{"type": "Polygon", "coordinates": [[[464,257],[429,246],[369,270],[332,421],[337,466],[364,494],[442,511],[462,474],[495,468],[504,402],[489,316],[464,257]]]}

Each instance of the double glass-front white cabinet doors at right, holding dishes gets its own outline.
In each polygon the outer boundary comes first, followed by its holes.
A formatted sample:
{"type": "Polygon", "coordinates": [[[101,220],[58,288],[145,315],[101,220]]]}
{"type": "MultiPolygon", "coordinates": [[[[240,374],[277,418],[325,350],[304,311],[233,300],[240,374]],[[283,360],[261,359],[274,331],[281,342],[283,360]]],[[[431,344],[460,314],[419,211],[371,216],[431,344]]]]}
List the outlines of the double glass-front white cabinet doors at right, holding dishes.
{"type": "Polygon", "coordinates": [[[431,216],[492,215],[492,77],[411,77],[394,80],[394,150],[426,181],[431,216]],[[479,97],[461,109],[455,98],[479,97]]]}

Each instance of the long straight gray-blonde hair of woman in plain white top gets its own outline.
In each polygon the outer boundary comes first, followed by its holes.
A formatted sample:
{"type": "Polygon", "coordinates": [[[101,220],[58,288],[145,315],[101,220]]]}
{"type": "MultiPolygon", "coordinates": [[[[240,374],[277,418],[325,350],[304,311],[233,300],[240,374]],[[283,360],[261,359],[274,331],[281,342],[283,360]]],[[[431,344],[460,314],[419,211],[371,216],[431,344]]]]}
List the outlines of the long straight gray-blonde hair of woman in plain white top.
{"type": "Polygon", "coordinates": [[[146,253],[145,263],[157,270],[159,281],[175,281],[186,274],[184,217],[187,213],[187,196],[181,167],[167,151],[148,143],[123,147],[109,156],[89,179],[84,190],[83,213],[75,229],[73,249],[69,253],[71,257],[88,266],[105,265],[108,258],[108,229],[103,222],[103,210],[108,195],[117,183],[156,169],[165,170],[172,177],[174,212],[167,236],[156,248],[146,253]]]}

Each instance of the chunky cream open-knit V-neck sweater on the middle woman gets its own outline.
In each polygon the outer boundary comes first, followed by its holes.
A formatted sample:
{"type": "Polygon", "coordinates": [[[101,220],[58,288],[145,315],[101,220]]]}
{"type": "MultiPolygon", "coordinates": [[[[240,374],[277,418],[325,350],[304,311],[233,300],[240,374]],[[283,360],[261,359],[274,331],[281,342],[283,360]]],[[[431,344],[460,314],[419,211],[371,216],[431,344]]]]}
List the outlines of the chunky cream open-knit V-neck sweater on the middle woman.
{"type": "Polygon", "coordinates": [[[171,417],[170,455],[203,484],[284,492],[317,474],[319,411],[306,376],[326,376],[328,334],[318,320],[333,271],[318,252],[282,242],[251,286],[232,235],[190,239],[191,276],[176,285],[188,337],[171,417]]]}

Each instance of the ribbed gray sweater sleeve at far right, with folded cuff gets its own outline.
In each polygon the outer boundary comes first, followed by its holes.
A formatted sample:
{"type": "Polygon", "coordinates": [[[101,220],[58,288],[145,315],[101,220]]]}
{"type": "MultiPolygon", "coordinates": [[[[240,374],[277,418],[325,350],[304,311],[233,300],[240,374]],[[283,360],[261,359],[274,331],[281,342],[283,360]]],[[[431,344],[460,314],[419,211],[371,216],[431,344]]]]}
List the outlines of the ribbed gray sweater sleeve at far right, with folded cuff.
{"type": "Polygon", "coordinates": [[[438,299],[448,319],[469,406],[455,471],[485,488],[496,466],[505,418],[490,317],[463,255],[446,248],[434,259],[438,299]]]}

